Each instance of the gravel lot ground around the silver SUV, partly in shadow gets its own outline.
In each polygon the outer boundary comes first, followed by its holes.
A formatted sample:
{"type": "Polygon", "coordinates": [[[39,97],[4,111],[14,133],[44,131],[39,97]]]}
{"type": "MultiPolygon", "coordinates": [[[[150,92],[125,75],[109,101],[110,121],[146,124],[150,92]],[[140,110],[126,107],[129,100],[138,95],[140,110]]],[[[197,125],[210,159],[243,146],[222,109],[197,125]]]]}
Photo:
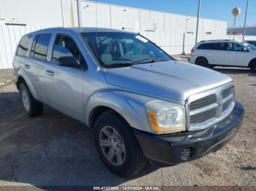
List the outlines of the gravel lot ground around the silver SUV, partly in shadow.
{"type": "Polygon", "coordinates": [[[148,165],[132,179],[108,171],[94,147],[93,133],[80,122],[49,107],[40,117],[26,117],[12,71],[1,70],[0,185],[256,186],[256,74],[216,70],[233,78],[236,98],[245,107],[235,139],[190,163],[159,169],[148,165]]]}

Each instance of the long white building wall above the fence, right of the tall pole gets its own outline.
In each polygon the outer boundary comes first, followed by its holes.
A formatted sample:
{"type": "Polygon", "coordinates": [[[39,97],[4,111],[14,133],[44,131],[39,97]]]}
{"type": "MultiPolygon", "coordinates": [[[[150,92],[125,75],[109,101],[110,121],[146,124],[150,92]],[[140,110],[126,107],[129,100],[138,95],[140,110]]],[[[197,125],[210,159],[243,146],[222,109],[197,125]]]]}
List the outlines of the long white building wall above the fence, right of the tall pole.
{"type": "MultiPolygon", "coordinates": [[[[195,33],[196,17],[80,1],[82,26],[195,33]]],[[[225,34],[227,22],[200,18],[199,32],[225,34]]]]}

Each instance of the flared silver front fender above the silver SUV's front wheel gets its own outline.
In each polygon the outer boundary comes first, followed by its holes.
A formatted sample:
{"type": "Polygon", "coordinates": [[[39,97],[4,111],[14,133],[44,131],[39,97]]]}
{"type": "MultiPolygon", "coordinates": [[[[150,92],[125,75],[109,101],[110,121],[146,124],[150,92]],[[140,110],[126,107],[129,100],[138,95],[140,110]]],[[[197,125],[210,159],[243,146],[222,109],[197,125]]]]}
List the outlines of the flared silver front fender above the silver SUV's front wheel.
{"type": "Polygon", "coordinates": [[[146,114],[146,104],[154,100],[156,99],[124,90],[99,90],[86,101],[86,125],[90,125],[91,112],[95,108],[107,106],[124,117],[132,128],[151,132],[146,114]]]}

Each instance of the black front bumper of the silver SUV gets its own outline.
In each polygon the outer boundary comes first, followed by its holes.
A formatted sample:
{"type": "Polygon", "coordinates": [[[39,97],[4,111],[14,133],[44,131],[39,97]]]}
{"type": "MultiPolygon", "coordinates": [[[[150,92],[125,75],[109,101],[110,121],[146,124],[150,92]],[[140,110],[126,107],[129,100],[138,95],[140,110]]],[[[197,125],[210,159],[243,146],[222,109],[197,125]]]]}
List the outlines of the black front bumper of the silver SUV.
{"type": "Polygon", "coordinates": [[[236,102],[227,119],[204,130],[155,135],[134,130],[141,149],[155,163],[176,165],[203,157],[220,149],[236,135],[244,117],[244,107],[236,102]]]}

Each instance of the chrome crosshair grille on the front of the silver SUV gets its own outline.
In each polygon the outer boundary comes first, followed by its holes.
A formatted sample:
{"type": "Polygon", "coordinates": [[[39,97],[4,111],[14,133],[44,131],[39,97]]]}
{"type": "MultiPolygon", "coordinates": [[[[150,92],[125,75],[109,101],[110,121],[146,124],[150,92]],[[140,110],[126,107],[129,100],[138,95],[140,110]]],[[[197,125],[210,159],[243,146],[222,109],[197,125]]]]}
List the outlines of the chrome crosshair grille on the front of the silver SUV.
{"type": "Polygon", "coordinates": [[[189,130],[207,128],[227,117],[235,105],[233,83],[192,95],[187,101],[189,130]]]}

